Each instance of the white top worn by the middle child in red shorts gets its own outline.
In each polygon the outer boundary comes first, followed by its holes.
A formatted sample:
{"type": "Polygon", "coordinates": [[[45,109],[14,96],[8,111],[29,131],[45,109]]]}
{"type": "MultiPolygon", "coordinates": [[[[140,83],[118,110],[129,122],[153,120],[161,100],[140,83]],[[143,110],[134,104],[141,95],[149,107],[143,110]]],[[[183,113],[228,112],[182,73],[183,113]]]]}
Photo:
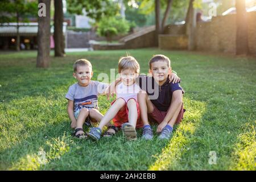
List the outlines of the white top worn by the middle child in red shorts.
{"type": "Polygon", "coordinates": [[[117,98],[123,98],[126,102],[130,98],[134,98],[137,101],[137,94],[141,88],[139,88],[139,85],[134,83],[133,85],[126,86],[121,82],[115,87],[115,94],[117,98]]]}

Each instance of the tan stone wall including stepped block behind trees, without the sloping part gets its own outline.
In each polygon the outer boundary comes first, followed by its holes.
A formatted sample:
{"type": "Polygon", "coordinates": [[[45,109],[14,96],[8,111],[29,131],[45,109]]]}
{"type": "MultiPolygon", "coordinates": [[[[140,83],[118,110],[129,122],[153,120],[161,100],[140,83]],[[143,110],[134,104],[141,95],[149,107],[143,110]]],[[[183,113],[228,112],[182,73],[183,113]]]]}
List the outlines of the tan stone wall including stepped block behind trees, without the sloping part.
{"type": "MultiPolygon", "coordinates": [[[[256,55],[256,12],[247,13],[249,52],[256,55]]],[[[168,25],[168,35],[159,35],[162,49],[187,49],[185,26],[168,25]],[[183,34],[183,35],[182,35],[183,34]],[[170,36],[171,35],[171,36],[170,36]],[[174,36],[176,35],[176,36],[174,36]]],[[[198,22],[196,27],[196,49],[198,51],[236,53],[236,15],[213,17],[211,22],[198,22]]]]}

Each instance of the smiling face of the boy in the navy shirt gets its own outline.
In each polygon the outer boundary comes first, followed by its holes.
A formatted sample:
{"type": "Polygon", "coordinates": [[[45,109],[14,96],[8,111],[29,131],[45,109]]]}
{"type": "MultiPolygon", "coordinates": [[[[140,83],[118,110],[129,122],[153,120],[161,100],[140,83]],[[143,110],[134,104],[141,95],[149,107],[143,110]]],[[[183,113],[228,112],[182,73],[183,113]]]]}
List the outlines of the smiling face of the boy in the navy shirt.
{"type": "Polygon", "coordinates": [[[171,73],[171,67],[168,67],[166,61],[155,61],[151,63],[149,72],[152,74],[152,77],[159,82],[159,85],[162,85],[166,82],[168,75],[171,73]]]}

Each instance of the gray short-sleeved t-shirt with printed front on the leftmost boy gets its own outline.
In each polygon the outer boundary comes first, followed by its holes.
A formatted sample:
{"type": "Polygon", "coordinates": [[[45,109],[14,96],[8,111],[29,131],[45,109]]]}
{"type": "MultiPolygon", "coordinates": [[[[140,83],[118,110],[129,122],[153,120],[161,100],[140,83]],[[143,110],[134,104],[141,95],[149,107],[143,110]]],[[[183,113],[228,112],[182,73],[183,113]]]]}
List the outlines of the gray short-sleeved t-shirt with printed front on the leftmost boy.
{"type": "Polygon", "coordinates": [[[78,83],[69,86],[65,98],[74,101],[74,112],[84,107],[98,109],[98,95],[104,93],[109,84],[98,81],[90,81],[88,86],[80,86],[78,83]]]}

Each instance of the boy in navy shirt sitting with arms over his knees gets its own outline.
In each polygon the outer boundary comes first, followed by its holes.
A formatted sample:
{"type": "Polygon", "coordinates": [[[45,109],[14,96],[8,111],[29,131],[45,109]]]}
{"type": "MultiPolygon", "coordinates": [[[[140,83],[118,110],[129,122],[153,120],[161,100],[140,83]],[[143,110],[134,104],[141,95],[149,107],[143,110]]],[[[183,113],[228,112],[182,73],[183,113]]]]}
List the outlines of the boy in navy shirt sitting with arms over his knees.
{"type": "Polygon", "coordinates": [[[183,119],[184,109],[182,97],[184,90],[179,83],[170,82],[170,59],[164,55],[155,55],[149,61],[149,72],[152,77],[139,76],[142,92],[138,94],[138,102],[143,122],[143,139],[152,139],[152,129],[148,122],[159,124],[159,139],[170,139],[175,123],[183,119]]]}

